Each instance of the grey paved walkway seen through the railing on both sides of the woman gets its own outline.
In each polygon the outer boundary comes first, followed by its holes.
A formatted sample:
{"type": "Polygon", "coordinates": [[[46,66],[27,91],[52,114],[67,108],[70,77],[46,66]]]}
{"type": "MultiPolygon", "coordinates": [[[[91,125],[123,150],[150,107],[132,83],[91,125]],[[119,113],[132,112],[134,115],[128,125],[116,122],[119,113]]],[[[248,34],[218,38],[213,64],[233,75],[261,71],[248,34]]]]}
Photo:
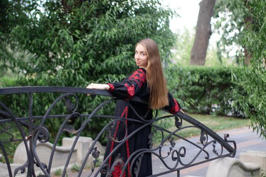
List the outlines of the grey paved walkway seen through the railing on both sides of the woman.
{"type": "MultiPolygon", "coordinates": [[[[242,127],[238,129],[232,129],[232,130],[222,130],[222,131],[217,132],[217,134],[221,137],[223,137],[224,134],[229,134],[230,137],[227,138],[227,140],[236,141],[237,154],[235,158],[239,158],[239,153],[246,152],[247,150],[266,151],[266,141],[262,140],[262,138],[260,138],[256,134],[256,132],[253,132],[252,129],[249,129],[248,127],[242,127]]],[[[194,137],[188,140],[201,146],[201,144],[199,144],[199,137],[194,137]]],[[[211,139],[209,141],[211,141],[211,139]]],[[[182,160],[183,163],[188,163],[189,161],[191,161],[195,157],[195,154],[197,154],[199,151],[198,148],[196,148],[195,146],[192,146],[191,144],[186,143],[183,140],[175,141],[175,143],[176,144],[175,144],[174,149],[179,149],[182,146],[186,148],[186,156],[184,157],[184,160],[182,160]]],[[[169,151],[169,148],[170,148],[170,144],[167,146],[163,146],[162,148],[163,156],[167,156],[167,152],[169,151]]],[[[212,144],[210,144],[208,148],[206,148],[206,150],[210,153],[210,157],[215,157],[215,155],[212,153],[212,149],[213,149],[212,144]]],[[[218,145],[216,145],[215,149],[217,150],[217,152],[220,152],[218,145]]],[[[200,153],[197,159],[204,160],[204,157],[205,157],[205,154],[200,153]]],[[[196,161],[199,161],[197,159],[196,161]]],[[[172,161],[171,157],[166,158],[165,161],[167,165],[169,165],[170,167],[175,166],[175,161],[172,161]]],[[[200,165],[192,166],[186,169],[182,169],[180,170],[180,176],[185,176],[185,175],[206,176],[206,172],[207,172],[207,169],[210,163],[211,161],[202,163],[200,165]]],[[[178,164],[178,166],[180,166],[180,164],[178,164]]],[[[163,171],[167,171],[167,168],[165,167],[165,165],[161,162],[161,160],[158,157],[153,156],[153,174],[158,174],[163,171]]],[[[90,173],[90,170],[86,170],[83,172],[82,176],[88,176],[89,173],[90,173]]],[[[77,173],[71,173],[68,176],[77,176],[77,173]]],[[[164,174],[161,176],[172,177],[172,176],[177,176],[177,173],[172,172],[172,173],[164,174]]]]}

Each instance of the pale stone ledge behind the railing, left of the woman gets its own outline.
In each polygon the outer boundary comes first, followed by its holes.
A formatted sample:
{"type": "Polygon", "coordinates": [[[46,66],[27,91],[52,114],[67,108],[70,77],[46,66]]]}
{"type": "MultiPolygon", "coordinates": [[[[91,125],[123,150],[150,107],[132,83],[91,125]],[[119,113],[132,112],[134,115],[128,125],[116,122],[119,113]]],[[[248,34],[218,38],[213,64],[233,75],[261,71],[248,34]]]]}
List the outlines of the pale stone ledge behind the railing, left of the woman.
{"type": "MultiPolygon", "coordinates": [[[[62,146],[56,146],[54,156],[53,156],[53,162],[52,162],[52,169],[51,173],[56,171],[57,169],[63,169],[66,159],[70,153],[70,150],[72,148],[72,145],[77,137],[72,138],[63,138],[62,140],[62,146]]],[[[79,137],[77,140],[77,144],[74,147],[74,150],[72,152],[68,169],[71,168],[73,164],[78,164],[79,166],[82,165],[82,163],[85,161],[85,157],[88,153],[89,148],[94,143],[94,140],[90,137],[79,137]]],[[[29,142],[27,142],[29,146],[29,142]]],[[[37,142],[36,144],[36,153],[39,157],[40,161],[49,164],[49,159],[51,156],[51,152],[53,149],[53,144],[47,142],[47,143],[40,143],[37,142]]],[[[103,154],[105,152],[105,147],[102,146],[99,142],[95,143],[95,146],[97,147],[97,151],[100,151],[101,155],[99,156],[98,160],[101,162],[103,161],[103,154]]],[[[3,155],[0,154],[0,158],[3,158],[3,155]]],[[[93,160],[94,158],[90,154],[89,158],[86,160],[85,168],[89,168],[93,166],[93,160]]],[[[22,166],[27,161],[27,153],[25,149],[24,142],[21,142],[19,146],[17,147],[13,162],[11,163],[11,170],[12,173],[14,172],[15,168],[22,166]]],[[[42,173],[39,167],[36,167],[34,165],[34,169],[36,174],[42,173]]],[[[26,168],[27,170],[27,168],[26,168]]],[[[18,173],[16,176],[26,176],[27,172],[25,171],[24,174],[18,173]]],[[[9,176],[7,165],[0,162],[0,176],[9,176]]]]}

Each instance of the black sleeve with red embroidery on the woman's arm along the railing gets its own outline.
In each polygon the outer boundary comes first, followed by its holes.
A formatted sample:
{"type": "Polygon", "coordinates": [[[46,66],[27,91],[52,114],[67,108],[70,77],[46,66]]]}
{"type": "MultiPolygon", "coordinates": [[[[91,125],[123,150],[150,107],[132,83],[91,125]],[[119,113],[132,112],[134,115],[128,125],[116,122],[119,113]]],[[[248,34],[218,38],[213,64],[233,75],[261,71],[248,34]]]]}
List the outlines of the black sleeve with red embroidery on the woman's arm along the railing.
{"type": "Polygon", "coordinates": [[[145,80],[145,72],[142,69],[138,69],[123,82],[107,83],[110,86],[108,91],[117,98],[129,99],[134,97],[140,91],[145,80]]]}

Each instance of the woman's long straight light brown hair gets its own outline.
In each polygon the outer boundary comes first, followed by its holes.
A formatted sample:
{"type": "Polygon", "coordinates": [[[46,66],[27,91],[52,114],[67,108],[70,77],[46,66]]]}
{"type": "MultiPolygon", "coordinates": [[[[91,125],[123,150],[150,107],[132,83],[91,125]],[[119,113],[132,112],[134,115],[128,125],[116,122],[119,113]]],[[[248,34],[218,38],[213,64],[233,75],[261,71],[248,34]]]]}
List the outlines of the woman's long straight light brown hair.
{"type": "Polygon", "coordinates": [[[153,39],[145,38],[140,40],[138,44],[144,46],[148,57],[146,79],[150,91],[149,108],[163,108],[169,104],[168,90],[157,43],[153,39]]]}

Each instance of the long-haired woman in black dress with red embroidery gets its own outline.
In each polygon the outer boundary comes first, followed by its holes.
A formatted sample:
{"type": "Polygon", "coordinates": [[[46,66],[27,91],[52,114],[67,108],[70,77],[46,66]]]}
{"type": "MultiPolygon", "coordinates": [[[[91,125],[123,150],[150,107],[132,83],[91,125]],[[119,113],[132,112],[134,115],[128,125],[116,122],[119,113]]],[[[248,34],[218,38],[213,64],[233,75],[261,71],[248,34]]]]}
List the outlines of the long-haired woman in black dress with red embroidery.
{"type": "MultiPolygon", "coordinates": [[[[153,117],[153,109],[164,108],[170,113],[175,114],[180,110],[177,101],[167,91],[166,81],[163,75],[160,53],[157,43],[149,38],[145,38],[136,44],[135,62],[139,69],[130,74],[122,82],[114,82],[108,84],[91,83],[88,89],[107,90],[113,96],[122,99],[117,101],[115,116],[126,118],[125,123],[117,121],[112,129],[112,136],[118,140],[122,140],[126,135],[126,128],[128,135],[134,130],[141,127],[143,123],[129,121],[127,118],[138,119],[137,114],[144,119],[151,119],[153,117]],[[140,97],[148,101],[148,105],[140,104],[130,101],[132,97],[140,97]],[[125,101],[126,100],[126,101],[125,101]],[[129,106],[132,105],[133,109],[129,106]]],[[[138,131],[134,136],[130,137],[120,148],[113,152],[108,159],[108,165],[112,166],[116,157],[122,157],[124,163],[130,155],[139,149],[149,149],[148,136],[150,135],[151,127],[146,126],[138,131]]],[[[107,143],[104,159],[112,150],[119,145],[114,141],[109,140],[107,143]]],[[[122,176],[130,176],[130,165],[132,159],[128,164],[122,176]]],[[[151,168],[151,154],[144,153],[139,158],[140,169],[138,169],[138,176],[147,176],[152,174],[151,168]]],[[[117,163],[117,162],[116,162],[117,163]]],[[[112,176],[119,176],[122,172],[121,163],[114,164],[115,170],[112,171],[112,176]]],[[[136,163],[133,164],[132,173],[137,169],[136,163]]],[[[102,174],[105,176],[106,174],[102,174]]]]}

